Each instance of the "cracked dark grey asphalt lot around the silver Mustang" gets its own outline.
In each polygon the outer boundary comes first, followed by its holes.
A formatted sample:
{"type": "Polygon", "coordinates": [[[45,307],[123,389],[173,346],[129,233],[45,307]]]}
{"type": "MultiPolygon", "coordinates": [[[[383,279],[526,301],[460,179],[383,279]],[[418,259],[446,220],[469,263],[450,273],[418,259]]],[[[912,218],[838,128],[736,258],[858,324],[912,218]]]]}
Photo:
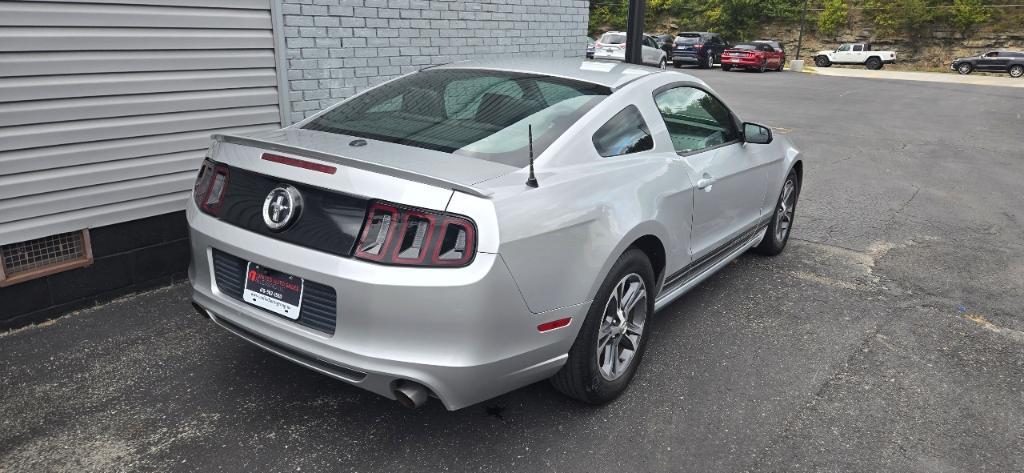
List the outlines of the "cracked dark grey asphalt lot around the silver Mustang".
{"type": "Polygon", "coordinates": [[[1024,471],[1024,90],[686,72],[804,150],[795,240],[659,312],[617,401],[406,410],[177,286],[0,337],[0,471],[1024,471]]]}

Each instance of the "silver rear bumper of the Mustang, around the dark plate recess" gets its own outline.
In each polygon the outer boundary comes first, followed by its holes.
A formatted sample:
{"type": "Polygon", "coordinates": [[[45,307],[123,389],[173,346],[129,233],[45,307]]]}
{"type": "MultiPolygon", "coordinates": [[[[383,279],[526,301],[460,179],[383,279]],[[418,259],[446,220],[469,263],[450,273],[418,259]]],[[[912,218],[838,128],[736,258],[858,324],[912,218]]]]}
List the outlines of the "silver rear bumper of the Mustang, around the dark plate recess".
{"type": "Polygon", "coordinates": [[[193,300],[214,321],[280,356],[388,398],[396,382],[461,408],[552,376],[587,305],[529,312],[504,261],[465,268],[388,267],[336,257],[220,222],[189,205],[193,300]],[[216,283],[213,250],[333,288],[334,334],[250,305],[216,283]],[[573,317],[539,333],[543,321],[573,317]]]}

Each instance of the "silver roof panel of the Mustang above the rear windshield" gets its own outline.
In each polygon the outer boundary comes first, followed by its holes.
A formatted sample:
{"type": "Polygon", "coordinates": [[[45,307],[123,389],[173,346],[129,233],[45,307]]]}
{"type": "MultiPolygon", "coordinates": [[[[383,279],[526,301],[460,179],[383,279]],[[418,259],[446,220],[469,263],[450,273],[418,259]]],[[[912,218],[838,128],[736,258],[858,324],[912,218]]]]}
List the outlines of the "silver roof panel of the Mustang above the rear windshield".
{"type": "Polygon", "coordinates": [[[590,82],[592,84],[603,85],[611,89],[622,87],[641,77],[663,72],[660,69],[649,66],[638,66],[620,61],[578,59],[572,57],[516,57],[514,61],[510,61],[508,58],[471,59],[450,62],[447,64],[437,66],[430,69],[482,69],[538,74],[542,76],[561,77],[564,79],[590,82]]]}

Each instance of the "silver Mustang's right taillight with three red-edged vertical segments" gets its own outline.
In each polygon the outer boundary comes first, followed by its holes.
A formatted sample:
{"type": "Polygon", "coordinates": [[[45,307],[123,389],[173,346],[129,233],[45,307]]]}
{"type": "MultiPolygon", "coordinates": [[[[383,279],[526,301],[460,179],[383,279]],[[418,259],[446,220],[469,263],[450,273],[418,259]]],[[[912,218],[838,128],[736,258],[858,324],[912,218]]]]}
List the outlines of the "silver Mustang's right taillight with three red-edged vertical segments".
{"type": "Polygon", "coordinates": [[[476,225],[466,217],[375,202],[355,257],[403,266],[465,266],[476,251],[476,225]]]}

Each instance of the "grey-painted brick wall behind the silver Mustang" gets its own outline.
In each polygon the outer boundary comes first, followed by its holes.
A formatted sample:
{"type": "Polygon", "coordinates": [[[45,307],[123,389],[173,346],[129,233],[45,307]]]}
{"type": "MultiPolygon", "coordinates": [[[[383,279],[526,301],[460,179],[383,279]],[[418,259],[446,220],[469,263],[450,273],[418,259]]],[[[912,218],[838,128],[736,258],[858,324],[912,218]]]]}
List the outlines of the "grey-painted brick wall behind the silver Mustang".
{"type": "Polygon", "coordinates": [[[587,0],[285,0],[292,122],[401,74],[487,56],[573,56],[587,0]]]}

